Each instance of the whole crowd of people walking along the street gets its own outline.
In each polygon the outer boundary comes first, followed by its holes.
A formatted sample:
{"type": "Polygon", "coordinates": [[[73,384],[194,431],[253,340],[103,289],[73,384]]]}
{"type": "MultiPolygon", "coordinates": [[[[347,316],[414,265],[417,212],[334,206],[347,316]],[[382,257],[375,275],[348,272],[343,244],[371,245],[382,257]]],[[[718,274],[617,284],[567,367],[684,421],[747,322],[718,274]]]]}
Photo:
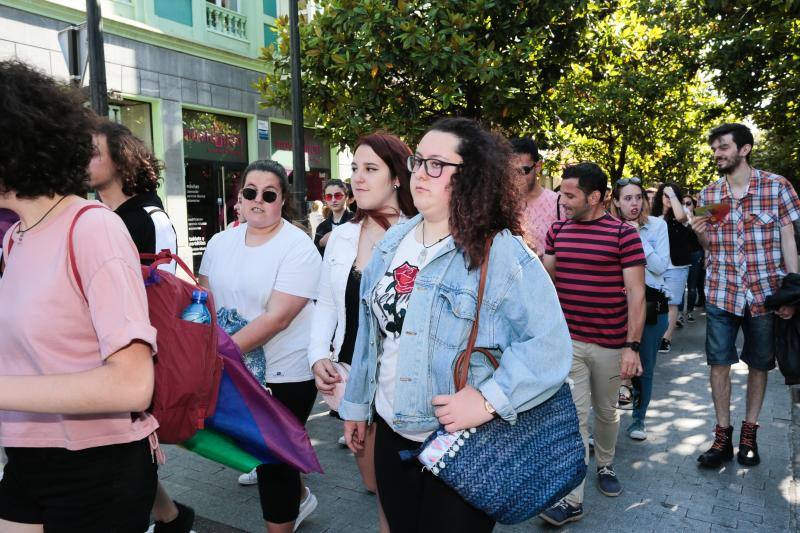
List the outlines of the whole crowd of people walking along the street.
{"type": "MultiPolygon", "coordinates": [[[[158,482],[147,412],[158,338],[138,254],[177,253],[156,193],[161,164],[24,64],[0,62],[0,94],[0,129],[14,132],[0,144],[0,530],[188,532],[194,510],[158,482]],[[108,209],[76,219],[95,203],[90,188],[108,209]]],[[[440,426],[514,424],[565,382],[596,486],[618,496],[619,408],[633,409],[628,437],[646,439],[658,353],[702,307],[716,426],[698,462],[733,458],[730,368],[741,360],[737,460],[755,466],[773,323],[796,311],[765,299],[798,272],[800,200],[750,165],[746,126],[722,125],[708,142],[720,177],[692,195],[657,176],[610,184],[592,162],[567,166],[549,190],[533,139],[466,118],[438,120],[413,149],[373,133],[352,147],[349,183],[325,184],[327,214],[314,211],[310,234],[294,223],[286,170],[253,161],[199,281],[243,319],[232,339],[247,368],[299,422],[318,393],[340,396],[333,414],[377,495],[381,532],[491,531],[489,515],[401,452],[440,426]],[[473,359],[457,391],[453,365],[478,312],[476,346],[499,365],[473,359]]],[[[581,519],[587,481],[541,519],[581,519]]],[[[258,486],[270,532],[296,530],[317,505],[284,464],[240,483],[258,486]]]]}

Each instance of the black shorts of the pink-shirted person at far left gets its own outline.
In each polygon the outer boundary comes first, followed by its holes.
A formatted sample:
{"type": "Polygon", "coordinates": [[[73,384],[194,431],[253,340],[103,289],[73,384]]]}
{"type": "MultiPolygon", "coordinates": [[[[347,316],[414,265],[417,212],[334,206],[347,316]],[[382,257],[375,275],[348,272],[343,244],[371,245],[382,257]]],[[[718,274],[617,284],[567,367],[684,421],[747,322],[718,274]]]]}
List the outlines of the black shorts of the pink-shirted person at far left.
{"type": "Polygon", "coordinates": [[[6,448],[0,518],[52,532],[142,533],[156,495],[147,439],[70,451],[6,448]]]}

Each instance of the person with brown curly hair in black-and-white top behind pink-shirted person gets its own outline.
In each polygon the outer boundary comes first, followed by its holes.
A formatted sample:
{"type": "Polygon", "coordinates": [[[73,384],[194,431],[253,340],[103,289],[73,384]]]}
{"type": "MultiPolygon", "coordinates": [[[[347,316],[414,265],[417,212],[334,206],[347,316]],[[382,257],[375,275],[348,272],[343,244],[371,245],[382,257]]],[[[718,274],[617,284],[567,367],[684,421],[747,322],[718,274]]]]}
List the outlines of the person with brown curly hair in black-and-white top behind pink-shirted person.
{"type": "MultiPolygon", "coordinates": [[[[178,253],[178,239],[156,194],[163,165],[122,124],[99,119],[92,136],[89,185],[99,200],[122,218],[140,254],[178,253]]],[[[162,265],[175,272],[175,263],[162,265]]]]}

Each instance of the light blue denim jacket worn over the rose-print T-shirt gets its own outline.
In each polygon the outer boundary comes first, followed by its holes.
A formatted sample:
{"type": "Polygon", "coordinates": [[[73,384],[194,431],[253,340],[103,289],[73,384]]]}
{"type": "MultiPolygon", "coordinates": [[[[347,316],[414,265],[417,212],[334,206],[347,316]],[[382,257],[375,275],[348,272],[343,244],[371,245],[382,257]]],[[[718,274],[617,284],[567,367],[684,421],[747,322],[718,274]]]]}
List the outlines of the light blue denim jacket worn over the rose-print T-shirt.
{"type": "MultiPolygon", "coordinates": [[[[370,302],[403,237],[421,219],[391,228],[362,275],[353,366],[339,406],[345,420],[372,421],[382,338],[370,302]]],[[[468,269],[452,240],[417,274],[399,340],[394,418],[386,421],[394,429],[438,427],[431,400],[456,392],[453,366],[475,318],[479,278],[480,269],[468,269]]],[[[555,394],[572,366],[572,342],[550,277],[508,230],[492,243],[476,346],[492,349],[500,367],[473,356],[469,383],[511,424],[555,394]]]]}

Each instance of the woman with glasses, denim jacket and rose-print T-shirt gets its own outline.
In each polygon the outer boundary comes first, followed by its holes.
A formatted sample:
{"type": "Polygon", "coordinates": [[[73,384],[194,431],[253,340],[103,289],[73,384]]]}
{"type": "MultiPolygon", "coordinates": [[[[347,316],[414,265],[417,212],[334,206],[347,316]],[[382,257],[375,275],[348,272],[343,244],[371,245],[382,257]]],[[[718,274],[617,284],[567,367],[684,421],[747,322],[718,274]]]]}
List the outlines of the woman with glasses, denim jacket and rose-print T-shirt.
{"type": "Polygon", "coordinates": [[[356,453],[367,424],[376,425],[378,495],[393,532],[491,531],[488,515],[398,452],[418,447],[439,424],[513,424],[569,373],[555,289],[520,238],[524,188],[509,172],[510,154],[505,139],[472,120],[436,122],[408,160],[420,214],[386,232],[362,275],[361,327],[339,413],[356,453]],[[500,366],[474,358],[470,385],[455,392],[453,365],[475,318],[484,261],[476,346],[494,350],[500,366]]]}

